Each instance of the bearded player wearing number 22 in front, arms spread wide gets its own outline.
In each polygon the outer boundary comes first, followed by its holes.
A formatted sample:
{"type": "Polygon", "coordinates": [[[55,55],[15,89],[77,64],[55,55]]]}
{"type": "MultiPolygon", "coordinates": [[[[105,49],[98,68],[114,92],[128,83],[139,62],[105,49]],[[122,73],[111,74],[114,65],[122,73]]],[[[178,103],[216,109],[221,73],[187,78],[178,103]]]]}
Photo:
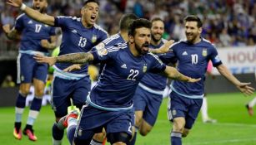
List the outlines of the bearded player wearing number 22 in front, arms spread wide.
{"type": "Polygon", "coordinates": [[[148,53],[151,39],[151,22],[146,19],[133,21],[128,31],[128,46],[119,49],[116,46],[103,47],[88,53],[68,54],[58,57],[35,57],[38,62],[53,65],[56,62],[86,63],[104,61],[106,65],[99,76],[98,84],[87,97],[81,118],[75,132],[76,114],[61,119],[60,126],[68,126],[70,143],[88,145],[94,133],[106,129],[111,144],[125,144],[132,136],[134,119],[133,94],[139,81],[146,72],[162,72],[173,80],[189,83],[192,79],[182,75],[173,67],[164,65],[158,56],[148,53]],[[73,138],[74,135],[74,138],[73,138]]]}

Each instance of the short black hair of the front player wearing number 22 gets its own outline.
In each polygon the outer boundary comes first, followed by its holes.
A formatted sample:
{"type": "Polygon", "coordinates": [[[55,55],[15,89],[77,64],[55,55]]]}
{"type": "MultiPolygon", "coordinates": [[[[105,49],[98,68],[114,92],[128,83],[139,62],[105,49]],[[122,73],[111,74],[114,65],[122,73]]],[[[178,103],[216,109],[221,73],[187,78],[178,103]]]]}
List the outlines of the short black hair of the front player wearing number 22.
{"type": "Polygon", "coordinates": [[[144,18],[139,18],[137,20],[134,20],[131,25],[128,27],[128,35],[129,36],[135,36],[135,29],[146,27],[150,29],[152,26],[151,22],[144,18]]]}

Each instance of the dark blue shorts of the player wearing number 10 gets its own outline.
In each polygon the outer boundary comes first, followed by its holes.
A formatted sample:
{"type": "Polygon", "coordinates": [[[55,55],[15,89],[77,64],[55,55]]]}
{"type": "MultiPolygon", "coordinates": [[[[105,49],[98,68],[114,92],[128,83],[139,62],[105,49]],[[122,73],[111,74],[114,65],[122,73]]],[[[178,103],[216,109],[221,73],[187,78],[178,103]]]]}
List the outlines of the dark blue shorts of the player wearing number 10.
{"type": "Polygon", "coordinates": [[[175,92],[171,92],[170,101],[168,103],[168,118],[173,121],[173,118],[185,118],[185,128],[192,128],[193,123],[198,117],[203,99],[189,99],[175,92]]]}

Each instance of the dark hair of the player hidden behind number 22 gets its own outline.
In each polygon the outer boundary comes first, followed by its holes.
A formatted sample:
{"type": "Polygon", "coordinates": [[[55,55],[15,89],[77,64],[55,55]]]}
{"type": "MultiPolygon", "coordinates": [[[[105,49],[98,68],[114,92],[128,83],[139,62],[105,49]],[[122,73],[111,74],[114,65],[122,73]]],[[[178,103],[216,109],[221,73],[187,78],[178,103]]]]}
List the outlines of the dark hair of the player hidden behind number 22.
{"type": "Polygon", "coordinates": [[[128,31],[130,24],[137,19],[138,17],[133,13],[123,14],[119,22],[120,30],[128,31]]]}

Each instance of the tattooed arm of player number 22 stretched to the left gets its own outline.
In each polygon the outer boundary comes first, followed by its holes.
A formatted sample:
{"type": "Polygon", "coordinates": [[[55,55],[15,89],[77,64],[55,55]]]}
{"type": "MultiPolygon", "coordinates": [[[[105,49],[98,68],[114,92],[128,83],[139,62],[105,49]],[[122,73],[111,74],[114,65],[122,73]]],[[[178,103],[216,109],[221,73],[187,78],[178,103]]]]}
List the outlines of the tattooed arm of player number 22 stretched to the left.
{"type": "Polygon", "coordinates": [[[40,63],[48,63],[49,65],[54,65],[56,62],[60,63],[74,63],[74,64],[84,64],[88,61],[93,60],[93,54],[90,52],[80,52],[80,53],[72,53],[63,56],[57,57],[48,57],[48,56],[40,56],[36,55],[34,58],[40,63]]]}

